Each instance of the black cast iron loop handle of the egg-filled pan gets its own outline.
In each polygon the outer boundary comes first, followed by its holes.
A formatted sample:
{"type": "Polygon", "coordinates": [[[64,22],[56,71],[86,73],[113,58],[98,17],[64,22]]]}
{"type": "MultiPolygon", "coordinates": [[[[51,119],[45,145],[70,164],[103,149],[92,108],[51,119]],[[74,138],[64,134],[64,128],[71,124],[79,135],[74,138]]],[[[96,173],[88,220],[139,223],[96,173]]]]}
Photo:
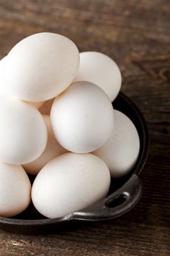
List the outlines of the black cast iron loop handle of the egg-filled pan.
{"type": "Polygon", "coordinates": [[[128,212],[138,202],[142,185],[137,175],[133,174],[128,182],[104,200],[100,200],[88,208],[77,211],[71,216],[73,220],[102,221],[117,218],[128,212]]]}

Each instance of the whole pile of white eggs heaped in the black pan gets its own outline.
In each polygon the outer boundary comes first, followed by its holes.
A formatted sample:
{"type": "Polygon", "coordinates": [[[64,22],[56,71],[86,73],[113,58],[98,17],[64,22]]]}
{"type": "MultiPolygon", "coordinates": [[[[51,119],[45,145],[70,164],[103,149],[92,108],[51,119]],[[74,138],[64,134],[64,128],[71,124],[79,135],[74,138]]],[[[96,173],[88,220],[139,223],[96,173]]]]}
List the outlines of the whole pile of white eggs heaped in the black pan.
{"type": "Polygon", "coordinates": [[[133,168],[138,132],[112,108],[121,80],[108,56],[79,54],[55,33],[24,38],[1,59],[0,216],[31,200],[45,217],[65,216],[105,197],[111,177],[133,168]],[[36,175],[32,185],[27,174],[36,175]]]}

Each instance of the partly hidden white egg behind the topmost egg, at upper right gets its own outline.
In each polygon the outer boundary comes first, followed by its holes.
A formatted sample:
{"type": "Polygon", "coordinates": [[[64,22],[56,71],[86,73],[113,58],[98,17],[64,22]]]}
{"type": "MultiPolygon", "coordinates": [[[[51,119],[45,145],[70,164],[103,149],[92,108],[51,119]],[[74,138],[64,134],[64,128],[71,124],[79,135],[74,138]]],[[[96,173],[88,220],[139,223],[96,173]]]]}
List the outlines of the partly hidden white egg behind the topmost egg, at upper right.
{"type": "Polygon", "coordinates": [[[109,56],[85,51],[80,54],[79,71],[74,81],[94,82],[114,101],[120,91],[122,77],[119,67],[109,56]]]}

